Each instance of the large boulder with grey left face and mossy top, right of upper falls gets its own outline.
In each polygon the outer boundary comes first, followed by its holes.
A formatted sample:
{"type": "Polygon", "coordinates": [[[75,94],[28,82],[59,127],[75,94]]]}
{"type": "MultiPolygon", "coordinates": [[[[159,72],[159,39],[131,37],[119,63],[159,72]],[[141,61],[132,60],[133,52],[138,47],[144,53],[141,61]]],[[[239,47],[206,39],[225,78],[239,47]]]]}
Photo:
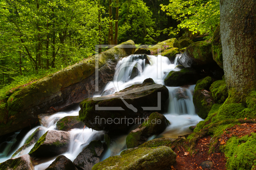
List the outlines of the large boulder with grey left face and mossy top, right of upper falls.
{"type": "Polygon", "coordinates": [[[215,63],[212,58],[212,43],[198,41],[190,44],[180,57],[180,63],[184,67],[202,67],[215,63]]]}

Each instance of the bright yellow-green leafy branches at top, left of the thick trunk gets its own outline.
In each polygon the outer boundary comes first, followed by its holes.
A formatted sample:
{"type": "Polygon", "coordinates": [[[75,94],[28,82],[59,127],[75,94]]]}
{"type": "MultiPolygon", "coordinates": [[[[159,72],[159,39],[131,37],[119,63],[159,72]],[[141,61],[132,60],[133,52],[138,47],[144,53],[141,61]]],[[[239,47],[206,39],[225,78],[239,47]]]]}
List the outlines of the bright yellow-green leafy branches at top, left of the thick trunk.
{"type": "MultiPolygon", "coordinates": [[[[220,22],[219,0],[170,0],[170,4],[161,5],[167,15],[178,19],[179,28],[187,28],[193,33],[213,33],[220,22]]],[[[172,34],[177,34],[175,31],[172,34]]]]}

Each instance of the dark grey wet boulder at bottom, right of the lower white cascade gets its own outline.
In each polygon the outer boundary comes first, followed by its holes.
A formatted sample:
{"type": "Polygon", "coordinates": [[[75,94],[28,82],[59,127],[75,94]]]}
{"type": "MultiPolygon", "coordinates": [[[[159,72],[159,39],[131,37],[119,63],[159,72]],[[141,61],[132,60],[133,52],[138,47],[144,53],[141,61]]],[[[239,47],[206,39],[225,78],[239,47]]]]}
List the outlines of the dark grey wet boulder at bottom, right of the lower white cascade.
{"type": "Polygon", "coordinates": [[[80,169],[91,170],[95,164],[100,162],[103,151],[104,148],[100,140],[94,140],[78,154],[74,164],[80,169]]]}

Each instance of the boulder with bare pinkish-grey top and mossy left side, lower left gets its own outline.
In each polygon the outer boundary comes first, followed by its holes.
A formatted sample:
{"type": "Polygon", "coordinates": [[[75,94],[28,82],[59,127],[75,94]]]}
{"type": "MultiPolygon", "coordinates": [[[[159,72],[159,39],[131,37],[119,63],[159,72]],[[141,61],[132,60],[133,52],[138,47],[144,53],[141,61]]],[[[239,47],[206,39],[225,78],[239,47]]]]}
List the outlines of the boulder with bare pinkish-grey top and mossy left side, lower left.
{"type": "Polygon", "coordinates": [[[60,155],[68,150],[69,143],[69,132],[48,130],[36,142],[35,146],[29,152],[29,155],[33,157],[51,157],[60,155]]]}

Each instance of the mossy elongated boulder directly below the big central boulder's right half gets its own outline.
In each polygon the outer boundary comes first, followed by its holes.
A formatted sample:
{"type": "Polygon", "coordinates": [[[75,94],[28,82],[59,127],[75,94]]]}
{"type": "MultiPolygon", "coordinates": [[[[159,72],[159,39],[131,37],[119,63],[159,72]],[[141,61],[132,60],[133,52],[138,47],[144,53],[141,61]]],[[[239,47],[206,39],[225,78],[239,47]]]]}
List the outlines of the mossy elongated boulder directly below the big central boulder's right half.
{"type": "Polygon", "coordinates": [[[164,115],[152,113],[137,129],[132,130],[126,137],[127,148],[134,148],[146,142],[148,137],[159,135],[170,125],[164,115]]]}

